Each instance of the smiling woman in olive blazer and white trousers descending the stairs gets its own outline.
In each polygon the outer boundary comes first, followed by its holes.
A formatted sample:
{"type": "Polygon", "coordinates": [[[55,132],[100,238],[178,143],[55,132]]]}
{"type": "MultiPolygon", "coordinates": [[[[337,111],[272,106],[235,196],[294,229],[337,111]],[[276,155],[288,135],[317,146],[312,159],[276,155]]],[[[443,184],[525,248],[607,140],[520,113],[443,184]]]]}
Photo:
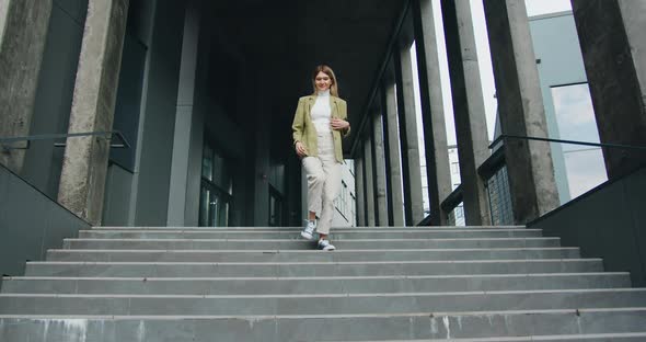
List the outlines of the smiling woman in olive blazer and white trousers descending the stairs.
{"type": "Polygon", "coordinates": [[[330,226],[334,198],[341,187],[342,134],[350,133],[347,104],[338,98],[338,84],[328,66],[312,72],[314,93],[300,98],[293,116],[293,146],[308,178],[308,224],[301,236],[308,240],[319,232],[319,249],[333,251],[330,226]],[[316,216],[319,221],[316,221],[316,216]]]}

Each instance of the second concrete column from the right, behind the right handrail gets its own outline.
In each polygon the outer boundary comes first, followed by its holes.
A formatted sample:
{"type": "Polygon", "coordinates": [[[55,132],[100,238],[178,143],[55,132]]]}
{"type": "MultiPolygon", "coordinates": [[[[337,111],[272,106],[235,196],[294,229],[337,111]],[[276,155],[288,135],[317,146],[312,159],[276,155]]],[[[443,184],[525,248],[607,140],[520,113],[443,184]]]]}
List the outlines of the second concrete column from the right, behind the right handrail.
{"type": "MultiPolygon", "coordinates": [[[[524,1],[485,0],[484,9],[503,134],[547,137],[524,1]]],[[[505,157],[517,224],[558,206],[550,145],[508,140],[505,157]]]]}

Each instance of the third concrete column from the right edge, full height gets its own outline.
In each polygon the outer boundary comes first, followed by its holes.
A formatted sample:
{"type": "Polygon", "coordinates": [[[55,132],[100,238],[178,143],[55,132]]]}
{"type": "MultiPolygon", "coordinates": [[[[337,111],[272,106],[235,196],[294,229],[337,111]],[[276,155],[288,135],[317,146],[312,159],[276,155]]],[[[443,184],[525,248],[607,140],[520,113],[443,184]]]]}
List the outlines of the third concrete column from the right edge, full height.
{"type": "Polygon", "coordinates": [[[485,184],[477,174],[491,152],[470,2],[443,0],[442,18],[466,225],[491,225],[485,184]]]}

